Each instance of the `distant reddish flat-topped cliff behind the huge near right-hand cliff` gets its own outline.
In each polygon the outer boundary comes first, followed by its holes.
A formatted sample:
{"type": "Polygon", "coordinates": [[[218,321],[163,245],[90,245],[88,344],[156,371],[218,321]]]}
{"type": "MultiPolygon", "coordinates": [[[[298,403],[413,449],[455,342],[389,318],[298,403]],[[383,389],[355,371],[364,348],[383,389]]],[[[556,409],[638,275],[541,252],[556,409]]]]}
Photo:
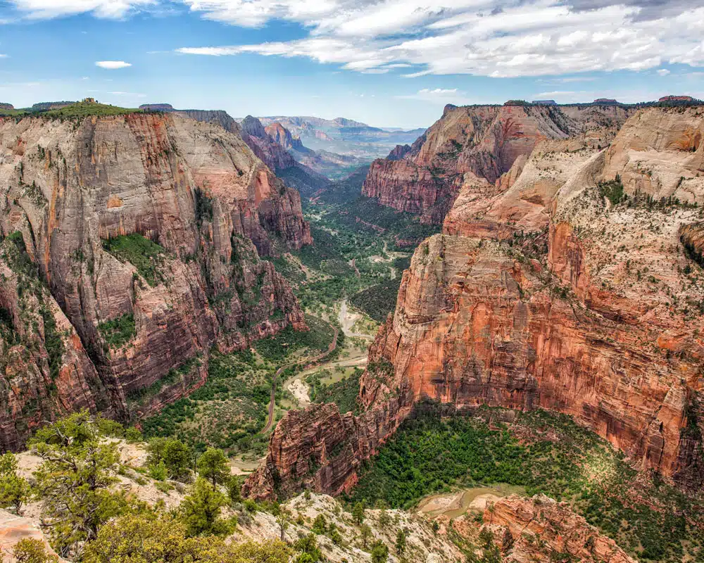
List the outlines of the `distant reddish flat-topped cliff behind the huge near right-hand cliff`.
{"type": "MultiPolygon", "coordinates": [[[[465,184],[484,194],[546,139],[613,137],[629,112],[605,106],[446,106],[410,150],[375,160],[363,194],[441,223],[465,184]]],[[[601,147],[600,147],[601,148],[601,147]]],[[[524,160],[523,160],[524,162],[524,160]]],[[[515,170],[514,170],[515,172],[515,170]]]]}

